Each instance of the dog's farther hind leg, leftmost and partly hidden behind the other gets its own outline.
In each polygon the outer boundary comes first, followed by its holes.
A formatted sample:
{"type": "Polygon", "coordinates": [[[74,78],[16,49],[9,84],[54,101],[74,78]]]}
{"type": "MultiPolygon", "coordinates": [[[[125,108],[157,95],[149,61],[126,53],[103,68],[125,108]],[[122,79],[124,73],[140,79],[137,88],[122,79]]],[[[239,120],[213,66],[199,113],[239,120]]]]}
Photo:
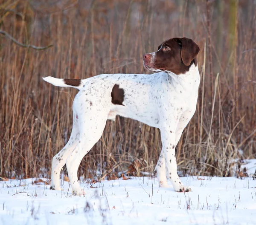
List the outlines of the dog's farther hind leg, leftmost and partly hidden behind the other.
{"type": "Polygon", "coordinates": [[[78,143],[79,135],[80,135],[79,126],[76,121],[76,116],[73,113],[73,128],[72,128],[70,139],[68,140],[65,147],[62,148],[61,151],[52,158],[52,177],[51,177],[50,189],[61,190],[61,186],[60,186],[61,168],[66,163],[67,157],[76,147],[78,143]]]}

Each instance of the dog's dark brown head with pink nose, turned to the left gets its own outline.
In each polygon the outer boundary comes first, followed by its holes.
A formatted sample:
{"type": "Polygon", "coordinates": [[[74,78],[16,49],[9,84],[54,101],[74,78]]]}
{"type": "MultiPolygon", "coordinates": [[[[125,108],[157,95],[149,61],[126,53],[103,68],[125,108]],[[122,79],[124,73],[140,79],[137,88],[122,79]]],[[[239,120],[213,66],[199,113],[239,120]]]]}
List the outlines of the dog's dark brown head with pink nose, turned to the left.
{"type": "Polygon", "coordinates": [[[177,75],[189,71],[200,51],[199,46],[189,38],[172,38],[164,41],[156,52],[143,55],[146,69],[152,71],[170,71],[177,75]]]}

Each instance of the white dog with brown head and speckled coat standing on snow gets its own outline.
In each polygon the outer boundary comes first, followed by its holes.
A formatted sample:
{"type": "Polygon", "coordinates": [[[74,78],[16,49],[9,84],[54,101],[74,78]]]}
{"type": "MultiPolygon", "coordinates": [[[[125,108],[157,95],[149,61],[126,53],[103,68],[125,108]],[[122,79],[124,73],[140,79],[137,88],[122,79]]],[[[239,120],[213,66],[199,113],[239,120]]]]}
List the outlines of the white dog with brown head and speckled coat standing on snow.
{"type": "Polygon", "coordinates": [[[60,171],[66,164],[74,195],[83,195],[77,177],[83,157],[102,136],[107,119],[132,118],[160,129],[162,150],[155,171],[160,187],[191,191],[177,175],[175,147],[195,113],[200,75],[199,46],[189,38],[164,41],[143,55],[144,67],[155,73],[101,74],[87,79],[43,78],[58,87],[79,89],[73,101],[73,129],[65,147],[52,159],[50,189],[61,190],[60,171]]]}

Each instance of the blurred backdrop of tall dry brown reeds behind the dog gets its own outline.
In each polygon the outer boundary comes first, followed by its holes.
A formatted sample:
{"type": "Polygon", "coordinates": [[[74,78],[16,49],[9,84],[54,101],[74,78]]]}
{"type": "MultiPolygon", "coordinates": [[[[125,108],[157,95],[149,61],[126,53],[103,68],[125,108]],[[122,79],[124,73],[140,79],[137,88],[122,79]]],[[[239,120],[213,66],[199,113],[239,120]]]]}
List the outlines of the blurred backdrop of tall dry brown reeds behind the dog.
{"type": "MultiPolygon", "coordinates": [[[[50,178],[70,136],[77,90],[42,77],[148,73],[143,54],[173,37],[201,49],[197,110],[176,147],[180,175],[247,176],[240,165],[256,157],[255,0],[0,0],[0,176],[50,178]]],[[[160,150],[157,128],[118,116],[79,176],[151,176],[160,150]]]]}

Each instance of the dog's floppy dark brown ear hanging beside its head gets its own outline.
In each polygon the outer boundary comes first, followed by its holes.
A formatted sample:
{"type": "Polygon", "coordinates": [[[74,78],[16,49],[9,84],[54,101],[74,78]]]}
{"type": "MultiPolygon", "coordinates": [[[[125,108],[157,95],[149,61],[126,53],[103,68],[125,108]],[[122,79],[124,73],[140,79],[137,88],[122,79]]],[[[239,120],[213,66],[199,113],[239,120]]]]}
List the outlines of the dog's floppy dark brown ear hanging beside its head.
{"type": "Polygon", "coordinates": [[[181,59],[186,66],[189,66],[192,60],[200,51],[199,46],[190,38],[180,38],[181,41],[181,59]]]}

